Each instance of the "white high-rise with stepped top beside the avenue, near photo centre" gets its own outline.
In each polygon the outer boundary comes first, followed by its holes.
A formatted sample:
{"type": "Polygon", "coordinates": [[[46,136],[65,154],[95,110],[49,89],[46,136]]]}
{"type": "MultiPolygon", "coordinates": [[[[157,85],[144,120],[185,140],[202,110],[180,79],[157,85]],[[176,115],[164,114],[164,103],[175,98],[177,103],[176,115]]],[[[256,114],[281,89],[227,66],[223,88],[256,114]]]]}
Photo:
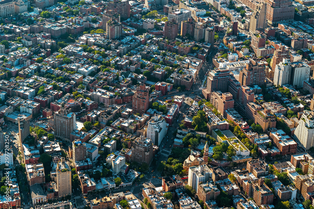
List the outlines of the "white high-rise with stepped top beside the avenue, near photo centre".
{"type": "Polygon", "coordinates": [[[147,138],[150,138],[154,145],[159,146],[167,133],[167,123],[161,115],[155,115],[148,122],[147,138]]]}

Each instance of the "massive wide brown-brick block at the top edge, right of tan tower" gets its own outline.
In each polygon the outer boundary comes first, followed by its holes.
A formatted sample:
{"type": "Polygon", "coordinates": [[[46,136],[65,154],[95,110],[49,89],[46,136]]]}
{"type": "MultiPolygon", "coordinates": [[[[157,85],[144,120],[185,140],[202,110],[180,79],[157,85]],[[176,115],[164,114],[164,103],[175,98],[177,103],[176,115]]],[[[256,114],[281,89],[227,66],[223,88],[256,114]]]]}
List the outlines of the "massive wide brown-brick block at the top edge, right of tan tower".
{"type": "Polygon", "coordinates": [[[293,20],[295,6],[291,0],[267,0],[266,19],[268,24],[273,25],[278,22],[293,20]]]}

